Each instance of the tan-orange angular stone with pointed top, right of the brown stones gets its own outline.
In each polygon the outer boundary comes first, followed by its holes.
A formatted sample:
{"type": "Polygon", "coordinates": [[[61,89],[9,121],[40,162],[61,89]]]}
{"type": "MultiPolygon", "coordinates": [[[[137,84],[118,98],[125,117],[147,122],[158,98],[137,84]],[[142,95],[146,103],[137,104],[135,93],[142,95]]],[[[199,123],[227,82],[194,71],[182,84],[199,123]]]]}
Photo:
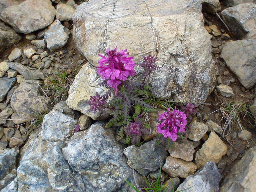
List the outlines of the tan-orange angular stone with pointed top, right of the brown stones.
{"type": "Polygon", "coordinates": [[[214,133],[210,133],[209,139],[205,141],[202,148],[196,152],[195,163],[198,168],[203,167],[203,165],[209,161],[218,163],[222,156],[227,153],[227,145],[223,143],[221,138],[214,133]]]}

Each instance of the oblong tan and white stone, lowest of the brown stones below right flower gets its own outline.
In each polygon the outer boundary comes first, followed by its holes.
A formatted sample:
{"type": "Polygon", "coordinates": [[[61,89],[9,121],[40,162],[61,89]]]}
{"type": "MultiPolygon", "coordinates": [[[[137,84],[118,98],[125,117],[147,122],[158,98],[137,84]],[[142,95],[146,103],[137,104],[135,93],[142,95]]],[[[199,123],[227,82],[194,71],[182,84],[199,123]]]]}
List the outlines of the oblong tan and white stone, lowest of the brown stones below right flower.
{"type": "Polygon", "coordinates": [[[197,167],[193,162],[185,161],[171,156],[166,158],[166,162],[162,167],[162,170],[169,174],[169,176],[182,178],[193,175],[196,169],[197,167]]]}

